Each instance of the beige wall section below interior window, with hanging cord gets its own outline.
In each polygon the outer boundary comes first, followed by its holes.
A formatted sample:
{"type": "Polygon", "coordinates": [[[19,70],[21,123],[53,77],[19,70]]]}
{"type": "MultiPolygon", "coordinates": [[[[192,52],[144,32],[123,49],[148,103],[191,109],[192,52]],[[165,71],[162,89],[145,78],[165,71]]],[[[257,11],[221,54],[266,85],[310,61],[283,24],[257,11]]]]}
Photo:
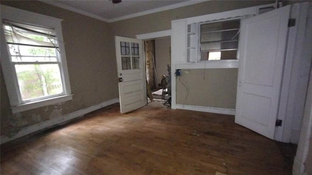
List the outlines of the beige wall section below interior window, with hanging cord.
{"type": "Polygon", "coordinates": [[[237,71],[237,68],[181,70],[181,76],[176,78],[176,103],[235,109],[237,71]]]}

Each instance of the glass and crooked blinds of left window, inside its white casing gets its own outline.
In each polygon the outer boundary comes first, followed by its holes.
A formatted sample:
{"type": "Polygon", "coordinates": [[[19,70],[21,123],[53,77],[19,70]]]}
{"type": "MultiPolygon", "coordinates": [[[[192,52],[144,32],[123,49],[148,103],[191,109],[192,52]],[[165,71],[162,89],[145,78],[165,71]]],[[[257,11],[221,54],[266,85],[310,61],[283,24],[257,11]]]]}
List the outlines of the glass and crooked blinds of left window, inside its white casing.
{"type": "Polygon", "coordinates": [[[21,101],[64,94],[54,30],[7,20],[3,28],[21,101]]]}

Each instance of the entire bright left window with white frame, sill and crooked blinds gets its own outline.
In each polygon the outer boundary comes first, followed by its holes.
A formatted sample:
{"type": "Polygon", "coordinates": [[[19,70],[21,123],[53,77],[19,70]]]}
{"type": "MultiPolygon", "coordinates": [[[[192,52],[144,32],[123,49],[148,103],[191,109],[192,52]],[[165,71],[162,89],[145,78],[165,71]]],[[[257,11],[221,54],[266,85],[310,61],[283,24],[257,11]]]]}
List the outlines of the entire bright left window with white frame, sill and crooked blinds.
{"type": "Polygon", "coordinates": [[[1,38],[13,113],[72,99],[59,19],[1,5],[1,38]]]}

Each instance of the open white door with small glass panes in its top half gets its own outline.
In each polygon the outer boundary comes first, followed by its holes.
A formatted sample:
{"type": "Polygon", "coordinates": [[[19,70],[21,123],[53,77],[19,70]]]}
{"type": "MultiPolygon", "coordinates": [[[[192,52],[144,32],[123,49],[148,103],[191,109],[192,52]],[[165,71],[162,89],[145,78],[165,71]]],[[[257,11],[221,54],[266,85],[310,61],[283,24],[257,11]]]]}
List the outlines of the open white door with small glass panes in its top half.
{"type": "Polygon", "coordinates": [[[115,37],[120,113],[146,105],[142,40],[115,37]]]}

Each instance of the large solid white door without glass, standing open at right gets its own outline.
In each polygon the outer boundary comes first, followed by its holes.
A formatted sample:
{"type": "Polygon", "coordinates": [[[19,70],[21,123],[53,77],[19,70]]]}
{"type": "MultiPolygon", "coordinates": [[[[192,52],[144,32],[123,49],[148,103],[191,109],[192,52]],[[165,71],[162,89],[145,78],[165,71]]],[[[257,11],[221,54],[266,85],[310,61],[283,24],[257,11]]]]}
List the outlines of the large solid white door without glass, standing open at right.
{"type": "Polygon", "coordinates": [[[241,22],[235,123],[274,139],[288,20],[285,6],[241,22]]]}

